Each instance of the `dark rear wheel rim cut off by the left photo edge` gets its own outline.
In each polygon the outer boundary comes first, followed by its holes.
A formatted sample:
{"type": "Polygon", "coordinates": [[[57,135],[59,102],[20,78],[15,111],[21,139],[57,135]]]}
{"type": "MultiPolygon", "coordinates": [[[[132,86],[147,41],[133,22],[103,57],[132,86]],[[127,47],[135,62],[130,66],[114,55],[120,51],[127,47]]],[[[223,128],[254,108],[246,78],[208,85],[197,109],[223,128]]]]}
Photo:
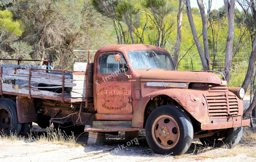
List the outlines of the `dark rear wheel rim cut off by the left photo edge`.
{"type": "Polygon", "coordinates": [[[0,108],[0,132],[7,133],[10,129],[11,118],[7,109],[1,107],[0,108]]]}

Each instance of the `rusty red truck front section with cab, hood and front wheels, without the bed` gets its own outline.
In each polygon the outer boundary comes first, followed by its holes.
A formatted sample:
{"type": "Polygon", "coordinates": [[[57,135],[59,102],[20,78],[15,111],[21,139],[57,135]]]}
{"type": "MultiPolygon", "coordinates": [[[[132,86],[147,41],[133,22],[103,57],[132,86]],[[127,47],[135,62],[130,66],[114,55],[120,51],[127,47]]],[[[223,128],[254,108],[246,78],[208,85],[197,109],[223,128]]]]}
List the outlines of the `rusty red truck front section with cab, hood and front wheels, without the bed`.
{"type": "Polygon", "coordinates": [[[177,71],[163,48],[105,46],[96,52],[93,69],[96,121],[85,131],[145,128],[153,151],[180,155],[193,138],[234,146],[250,123],[242,119],[243,88],[228,88],[220,72],[177,71]]]}

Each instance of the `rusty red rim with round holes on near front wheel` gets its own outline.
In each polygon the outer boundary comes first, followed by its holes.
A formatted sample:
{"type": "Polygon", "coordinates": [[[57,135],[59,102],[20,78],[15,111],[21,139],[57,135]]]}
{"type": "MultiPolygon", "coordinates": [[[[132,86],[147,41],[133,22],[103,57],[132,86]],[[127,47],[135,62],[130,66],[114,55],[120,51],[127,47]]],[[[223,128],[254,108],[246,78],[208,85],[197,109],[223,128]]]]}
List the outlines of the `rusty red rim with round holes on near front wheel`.
{"type": "Polygon", "coordinates": [[[151,132],[154,142],[163,149],[171,149],[180,138],[178,123],[168,115],[157,117],[152,125],[151,132]]]}

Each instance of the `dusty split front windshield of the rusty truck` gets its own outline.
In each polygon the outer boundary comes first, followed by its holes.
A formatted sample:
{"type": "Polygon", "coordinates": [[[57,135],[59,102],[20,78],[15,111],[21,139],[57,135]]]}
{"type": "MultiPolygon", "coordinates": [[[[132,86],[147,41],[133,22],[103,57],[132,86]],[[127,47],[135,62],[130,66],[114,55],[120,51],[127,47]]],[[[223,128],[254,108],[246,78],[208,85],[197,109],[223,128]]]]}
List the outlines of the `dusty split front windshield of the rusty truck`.
{"type": "Polygon", "coordinates": [[[131,51],[128,58],[135,70],[139,69],[168,69],[174,70],[169,54],[157,51],[131,51]]]}

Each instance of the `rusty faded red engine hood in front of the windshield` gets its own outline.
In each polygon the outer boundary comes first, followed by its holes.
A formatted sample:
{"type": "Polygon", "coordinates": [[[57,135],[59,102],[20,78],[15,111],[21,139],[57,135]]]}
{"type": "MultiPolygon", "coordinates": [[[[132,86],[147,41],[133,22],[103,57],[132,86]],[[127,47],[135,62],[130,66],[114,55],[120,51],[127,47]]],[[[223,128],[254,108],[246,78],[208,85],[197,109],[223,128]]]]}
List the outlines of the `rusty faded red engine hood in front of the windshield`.
{"type": "Polygon", "coordinates": [[[218,75],[204,71],[136,70],[141,81],[169,81],[221,84],[218,75]]]}

